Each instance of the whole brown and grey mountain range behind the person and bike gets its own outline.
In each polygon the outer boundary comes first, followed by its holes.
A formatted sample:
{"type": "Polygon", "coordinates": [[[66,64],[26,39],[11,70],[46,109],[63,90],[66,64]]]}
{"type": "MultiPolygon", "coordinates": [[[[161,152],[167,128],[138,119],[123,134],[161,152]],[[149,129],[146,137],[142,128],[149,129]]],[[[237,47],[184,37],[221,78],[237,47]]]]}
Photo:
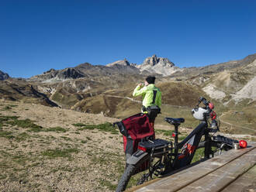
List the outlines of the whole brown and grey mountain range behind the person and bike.
{"type": "Polygon", "coordinates": [[[106,66],[81,63],[28,79],[12,78],[0,71],[0,96],[123,118],[140,111],[141,98],[132,97],[133,88],[154,75],[167,111],[168,106],[192,107],[199,96],[215,101],[223,111],[241,106],[256,111],[255,74],[256,53],[242,60],[188,68],[153,55],[141,64],[126,59],[106,66]]]}

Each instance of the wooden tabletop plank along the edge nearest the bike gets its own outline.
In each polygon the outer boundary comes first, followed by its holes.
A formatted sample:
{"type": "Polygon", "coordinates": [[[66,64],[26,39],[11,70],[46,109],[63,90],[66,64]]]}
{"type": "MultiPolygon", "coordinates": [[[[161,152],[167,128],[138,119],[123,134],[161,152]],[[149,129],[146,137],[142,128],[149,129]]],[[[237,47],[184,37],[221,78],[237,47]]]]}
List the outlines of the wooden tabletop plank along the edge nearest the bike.
{"type": "Polygon", "coordinates": [[[182,170],[169,177],[161,178],[161,180],[157,180],[154,183],[152,183],[152,181],[150,184],[145,183],[144,186],[132,188],[130,191],[177,191],[182,187],[189,185],[189,183],[193,183],[194,181],[205,177],[207,174],[212,173],[214,170],[230,163],[234,159],[243,156],[254,148],[255,146],[251,146],[247,149],[230,150],[221,156],[206,160],[205,162],[192,166],[189,169],[182,170]]]}

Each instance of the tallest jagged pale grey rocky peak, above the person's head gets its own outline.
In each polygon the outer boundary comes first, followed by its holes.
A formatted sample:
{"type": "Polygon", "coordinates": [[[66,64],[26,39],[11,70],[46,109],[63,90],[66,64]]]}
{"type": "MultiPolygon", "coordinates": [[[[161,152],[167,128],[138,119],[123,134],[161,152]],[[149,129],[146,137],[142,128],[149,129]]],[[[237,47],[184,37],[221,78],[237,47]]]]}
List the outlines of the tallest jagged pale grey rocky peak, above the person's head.
{"type": "Polygon", "coordinates": [[[173,67],[175,66],[168,58],[157,57],[153,55],[152,57],[147,57],[146,60],[142,63],[143,67],[151,66],[154,67],[155,65],[161,65],[162,67],[173,67]]]}

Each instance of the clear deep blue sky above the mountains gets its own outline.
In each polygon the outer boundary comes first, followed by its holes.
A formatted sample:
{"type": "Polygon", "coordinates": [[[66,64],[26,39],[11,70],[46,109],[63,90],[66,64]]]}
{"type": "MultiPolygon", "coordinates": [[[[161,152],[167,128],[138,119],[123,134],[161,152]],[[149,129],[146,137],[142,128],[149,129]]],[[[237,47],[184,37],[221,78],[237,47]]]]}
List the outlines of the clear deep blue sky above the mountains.
{"type": "Polygon", "coordinates": [[[178,67],[256,53],[256,1],[0,0],[0,70],[12,77],[79,63],[168,57],[178,67]]]}

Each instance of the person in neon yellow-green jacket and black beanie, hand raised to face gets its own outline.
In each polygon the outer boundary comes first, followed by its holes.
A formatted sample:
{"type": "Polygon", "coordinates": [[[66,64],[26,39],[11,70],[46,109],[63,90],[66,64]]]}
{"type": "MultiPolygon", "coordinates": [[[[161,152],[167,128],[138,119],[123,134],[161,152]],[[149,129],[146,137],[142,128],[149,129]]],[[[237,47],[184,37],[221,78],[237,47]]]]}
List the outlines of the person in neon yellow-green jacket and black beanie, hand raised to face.
{"type": "Polygon", "coordinates": [[[143,84],[138,84],[133,91],[133,97],[142,95],[142,112],[149,115],[150,124],[154,128],[154,119],[157,113],[160,112],[161,108],[161,91],[155,87],[155,77],[147,77],[143,84]]]}

